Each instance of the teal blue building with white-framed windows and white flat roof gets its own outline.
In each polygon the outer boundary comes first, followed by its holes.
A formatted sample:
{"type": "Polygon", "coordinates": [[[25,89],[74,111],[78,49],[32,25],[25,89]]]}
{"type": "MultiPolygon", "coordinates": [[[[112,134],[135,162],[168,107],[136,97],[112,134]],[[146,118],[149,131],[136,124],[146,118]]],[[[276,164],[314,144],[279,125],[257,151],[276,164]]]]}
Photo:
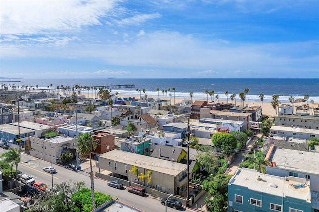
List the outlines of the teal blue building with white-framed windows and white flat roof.
{"type": "Polygon", "coordinates": [[[228,183],[228,212],[313,212],[309,184],[239,168],[228,183]]]}

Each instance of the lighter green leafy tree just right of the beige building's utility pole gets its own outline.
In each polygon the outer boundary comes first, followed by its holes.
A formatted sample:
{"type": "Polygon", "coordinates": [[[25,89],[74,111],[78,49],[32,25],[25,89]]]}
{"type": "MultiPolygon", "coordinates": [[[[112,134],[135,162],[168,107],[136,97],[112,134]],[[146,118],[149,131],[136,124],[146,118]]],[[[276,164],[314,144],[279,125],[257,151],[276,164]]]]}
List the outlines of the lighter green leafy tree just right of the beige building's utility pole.
{"type": "Polygon", "coordinates": [[[212,152],[204,152],[201,154],[197,154],[195,156],[195,160],[198,163],[198,165],[203,167],[209,175],[215,175],[219,169],[219,159],[212,152]]]}

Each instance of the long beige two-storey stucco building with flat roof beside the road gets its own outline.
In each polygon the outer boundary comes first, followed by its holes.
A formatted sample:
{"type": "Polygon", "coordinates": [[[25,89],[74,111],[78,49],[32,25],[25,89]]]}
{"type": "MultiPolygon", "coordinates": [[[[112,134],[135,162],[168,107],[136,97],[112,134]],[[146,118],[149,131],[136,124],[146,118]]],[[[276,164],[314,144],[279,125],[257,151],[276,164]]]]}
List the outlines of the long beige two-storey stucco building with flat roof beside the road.
{"type": "Polygon", "coordinates": [[[127,178],[132,183],[139,183],[141,186],[152,187],[170,194],[178,195],[186,189],[186,164],[112,150],[99,156],[98,166],[114,175],[122,175],[121,177],[127,178]],[[130,171],[133,166],[138,168],[138,175],[130,171]],[[150,180],[149,171],[151,171],[150,180]],[[142,176],[141,173],[145,175],[144,179],[138,178],[142,176]]]}

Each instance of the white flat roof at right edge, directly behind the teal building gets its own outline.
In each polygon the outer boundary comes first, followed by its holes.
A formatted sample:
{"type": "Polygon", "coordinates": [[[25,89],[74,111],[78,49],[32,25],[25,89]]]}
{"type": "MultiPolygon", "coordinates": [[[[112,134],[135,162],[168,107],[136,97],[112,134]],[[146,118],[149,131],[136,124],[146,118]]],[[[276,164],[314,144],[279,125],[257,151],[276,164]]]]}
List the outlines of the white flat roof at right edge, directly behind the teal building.
{"type": "MultiPolygon", "coordinates": [[[[270,149],[271,151],[271,149],[270,149]]],[[[275,147],[270,153],[269,162],[275,162],[282,169],[303,171],[319,175],[319,153],[305,152],[275,147]]]]}

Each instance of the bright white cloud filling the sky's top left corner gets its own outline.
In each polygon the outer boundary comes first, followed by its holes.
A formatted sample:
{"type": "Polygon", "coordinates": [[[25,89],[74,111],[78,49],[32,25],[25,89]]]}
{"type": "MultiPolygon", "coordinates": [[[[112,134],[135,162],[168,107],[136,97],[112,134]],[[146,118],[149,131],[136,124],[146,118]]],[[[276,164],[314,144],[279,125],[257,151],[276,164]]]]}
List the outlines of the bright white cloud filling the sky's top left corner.
{"type": "Polygon", "coordinates": [[[55,34],[101,25],[114,1],[2,0],[1,34],[55,34]]]}

